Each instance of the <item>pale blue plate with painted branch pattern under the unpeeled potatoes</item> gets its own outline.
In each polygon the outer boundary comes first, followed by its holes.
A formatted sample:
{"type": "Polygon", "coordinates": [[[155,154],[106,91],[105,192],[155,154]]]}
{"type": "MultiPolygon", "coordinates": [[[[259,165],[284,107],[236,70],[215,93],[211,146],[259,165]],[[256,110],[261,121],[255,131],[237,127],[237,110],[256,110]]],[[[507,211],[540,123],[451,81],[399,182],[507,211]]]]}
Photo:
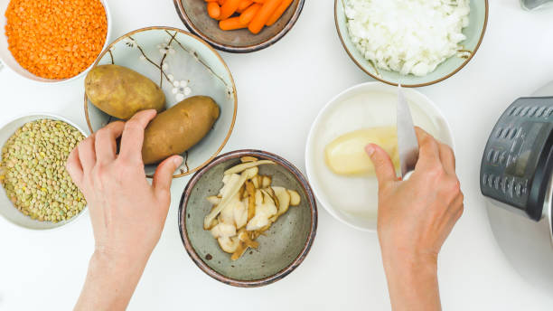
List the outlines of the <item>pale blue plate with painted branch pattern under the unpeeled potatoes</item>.
{"type": "MultiPolygon", "coordinates": [[[[138,29],[111,42],[94,66],[112,63],[155,81],[164,91],[166,108],[196,95],[210,96],[219,105],[219,119],[200,143],[183,153],[185,161],[174,177],[196,172],[220,153],[234,127],[238,100],[227,64],[209,44],[177,28],[138,29]]],[[[90,132],[116,120],[96,108],[86,94],[84,109],[90,132]]],[[[156,167],[146,165],[145,173],[151,177],[156,167]]]]}

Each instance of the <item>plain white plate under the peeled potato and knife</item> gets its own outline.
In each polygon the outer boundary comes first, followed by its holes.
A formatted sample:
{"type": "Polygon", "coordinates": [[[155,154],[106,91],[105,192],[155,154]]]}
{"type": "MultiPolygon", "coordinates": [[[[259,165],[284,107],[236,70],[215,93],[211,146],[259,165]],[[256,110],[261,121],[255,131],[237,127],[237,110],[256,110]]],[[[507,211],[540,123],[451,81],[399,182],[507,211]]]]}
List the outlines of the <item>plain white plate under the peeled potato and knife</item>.
{"type": "MultiPolygon", "coordinates": [[[[415,125],[453,147],[451,129],[436,105],[417,90],[404,92],[415,125]]],[[[315,196],[336,219],[361,231],[376,231],[376,177],[333,174],[325,164],[324,147],[356,129],[395,126],[397,102],[397,87],[380,82],[356,85],[326,104],[307,137],[305,166],[315,196]]]]}

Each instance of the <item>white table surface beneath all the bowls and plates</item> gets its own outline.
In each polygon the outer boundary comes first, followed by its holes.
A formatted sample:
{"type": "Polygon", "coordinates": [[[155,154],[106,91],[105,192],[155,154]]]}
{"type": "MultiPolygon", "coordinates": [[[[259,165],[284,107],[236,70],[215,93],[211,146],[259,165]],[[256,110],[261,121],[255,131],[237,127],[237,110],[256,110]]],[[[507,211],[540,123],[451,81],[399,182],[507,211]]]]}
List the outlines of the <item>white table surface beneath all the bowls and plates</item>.
{"type": "MultiPolygon", "coordinates": [[[[136,28],[184,28],[171,0],[110,0],[113,38],[136,28]]],[[[465,212],[439,260],[445,310],[551,310],[553,296],[511,268],[493,239],[478,174],[486,139],[504,108],[553,80],[553,10],[527,13],[518,0],[491,0],[483,45],[454,77],[419,89],[451,123],[465,212]]],[[[237,83],[239,114],[224,151],[261,148],[305,170],[305,139],[319,109],[370,77],[349,59],[334,28],[333,1],[307,0],[290,33],[262,52],[222,53],[237,83]],[[271,116],[271,118],[267,118],[271,116]],[[264,128],[262,132],[252,129],[264,128]]],[[[0,71],[0,123],[47,111],[86,127],[83,80],[48,86],[0,71]]],[[[319,209],[309,256],[268,287],[243,289],[205,275],[184,251],[173,182],[164,234],[130,310],[388,310],[376,234],[355,231],[319,209]]],[[[93,237],[86,214],[66,228],[27,231],[0,218],[0,310],[69,310],[83,284],[93,237]]]]}

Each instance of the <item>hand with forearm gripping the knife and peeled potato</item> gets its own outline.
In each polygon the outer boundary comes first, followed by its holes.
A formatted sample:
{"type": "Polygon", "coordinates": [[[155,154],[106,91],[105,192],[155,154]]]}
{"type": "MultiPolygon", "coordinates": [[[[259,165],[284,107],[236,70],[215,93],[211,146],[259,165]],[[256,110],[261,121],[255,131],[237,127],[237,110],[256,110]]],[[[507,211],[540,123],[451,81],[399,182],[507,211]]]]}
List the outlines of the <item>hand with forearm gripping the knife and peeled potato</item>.
{"type": "Polygon", "coordinates": [[[419,159],[407,181],[380,146],[366,147],[379,179],[378,233],[394,310],[439,310],[437,256],[463,213],[455,155],[417,128],[419,159]]]}

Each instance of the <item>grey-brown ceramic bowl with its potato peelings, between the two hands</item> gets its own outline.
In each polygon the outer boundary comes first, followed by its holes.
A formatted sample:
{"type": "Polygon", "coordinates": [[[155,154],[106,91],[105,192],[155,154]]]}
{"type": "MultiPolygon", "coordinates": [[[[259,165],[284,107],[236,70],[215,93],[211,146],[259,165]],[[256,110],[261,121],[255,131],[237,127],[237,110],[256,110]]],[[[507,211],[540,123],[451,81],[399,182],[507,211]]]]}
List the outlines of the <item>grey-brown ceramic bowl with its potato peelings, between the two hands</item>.
{"type": "Polygon", "coordinates": [[[317,207],[294,165],[265,151],[238,150],[194,174],[181,199],[179,230],[184,249],[211,278],[261,287],[305,259],[317,207]]]}

